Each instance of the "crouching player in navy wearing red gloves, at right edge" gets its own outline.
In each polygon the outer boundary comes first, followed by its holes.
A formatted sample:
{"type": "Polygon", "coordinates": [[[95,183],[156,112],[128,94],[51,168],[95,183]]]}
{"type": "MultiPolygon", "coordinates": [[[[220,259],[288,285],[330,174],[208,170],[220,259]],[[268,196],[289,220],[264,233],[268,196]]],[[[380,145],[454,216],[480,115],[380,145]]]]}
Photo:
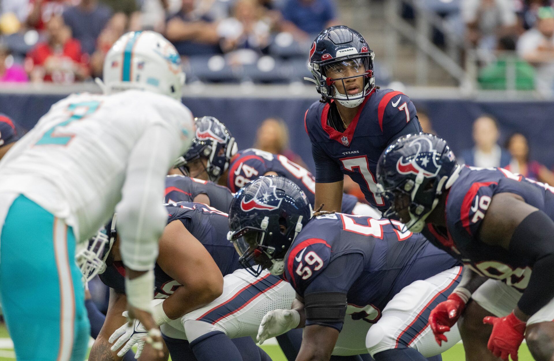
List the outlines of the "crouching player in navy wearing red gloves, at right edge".
{"type": "Polygon", "coordinates": [[[459,327],[468,359],[516,360],[525,334],[534,358],[551,360],[554,187],[505,169],[456,165],[446,142],[429,134],[391,145],[378,181],[393,204],[387,213],[466,265],[460,286],[430,315],[437,341],[465,310],[459,327]]]}

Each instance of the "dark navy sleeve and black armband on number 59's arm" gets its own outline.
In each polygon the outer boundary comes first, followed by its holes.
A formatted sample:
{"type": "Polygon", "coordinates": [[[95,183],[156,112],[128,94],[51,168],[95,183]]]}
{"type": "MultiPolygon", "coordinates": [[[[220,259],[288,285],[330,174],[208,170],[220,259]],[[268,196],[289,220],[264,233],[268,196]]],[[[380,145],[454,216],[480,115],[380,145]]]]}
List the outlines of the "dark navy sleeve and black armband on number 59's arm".
{"type": "MultiPolygon", "coordinates": [[[[363,256],[360,253],[350,253],[348,255],[342,255],[332,261],[325,270],[317,275],[317,277],[310,283],[304,292],[304,302],[315,303],[317,308],[321,309],[337,309],[338,304],[333,300],[334,297],[321,297],[325,294],[332,294],[337,296],[343,294],[343,299],[346,300],[346,294],[360,276],[363,270],[363,256]],[[317,298],[316,302],[312,302],[317,298]],[[328,304],[326,301],[328,300],[328,304]]],[[[346,302],[341,305],[346,310],[346,302]]],[[[337,319],[325,320],[322,317],[317,319],[307,316],[306,326],[312,324],[319,324],[321,326],[327,326],[337,329],[339,332],[342,329],[343,320],[337,319]]]]}

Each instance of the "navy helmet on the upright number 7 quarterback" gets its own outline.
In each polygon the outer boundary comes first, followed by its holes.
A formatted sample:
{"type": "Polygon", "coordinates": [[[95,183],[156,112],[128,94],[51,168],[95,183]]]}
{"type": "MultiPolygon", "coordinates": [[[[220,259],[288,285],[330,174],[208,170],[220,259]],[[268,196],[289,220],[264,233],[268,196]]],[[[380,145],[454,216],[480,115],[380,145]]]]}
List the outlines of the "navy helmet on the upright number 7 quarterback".
{"type": "MultiPolygon", "coordinates": [[[[356,30],[346,26],[332,26],[323,30],[314,40],[310,49],[309,65],[314,79],[304,78],[316,84],[317,92],[324,99],[335,99],[348,108],[360,105],[368,94],[375,88],[373,78],[373,58],[366,40],[356,30]],[[330,78],[327,70],[340,67],[353,68],[357,75],[343,78],[330,78]],[[360,93],[341,94],[335,87],[335,82],[345,79],[363,77],[363,89],[360,93]]],[[[337,71],[340,73],[340,71],[337,71]]],[[[346,89],[346,86],[344,87],[346,89]]]]}

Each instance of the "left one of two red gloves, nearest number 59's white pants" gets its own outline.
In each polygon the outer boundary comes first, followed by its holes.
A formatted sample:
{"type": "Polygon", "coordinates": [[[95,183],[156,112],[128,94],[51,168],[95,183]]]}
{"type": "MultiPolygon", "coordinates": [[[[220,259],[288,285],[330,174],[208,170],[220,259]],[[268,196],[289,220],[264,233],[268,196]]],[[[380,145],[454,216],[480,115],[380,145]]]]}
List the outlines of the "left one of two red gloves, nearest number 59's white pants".
{"type": "Polygon", "coordinates": [[[439,346],[443,341],[448,341],[444,333],[450,331],[450,327],[458,321],[464,308],[464,300],[458,294],[452,293],[446,301],[437,304],[437,307],[432,309],[429,314],[429,324],[439,346]]]}

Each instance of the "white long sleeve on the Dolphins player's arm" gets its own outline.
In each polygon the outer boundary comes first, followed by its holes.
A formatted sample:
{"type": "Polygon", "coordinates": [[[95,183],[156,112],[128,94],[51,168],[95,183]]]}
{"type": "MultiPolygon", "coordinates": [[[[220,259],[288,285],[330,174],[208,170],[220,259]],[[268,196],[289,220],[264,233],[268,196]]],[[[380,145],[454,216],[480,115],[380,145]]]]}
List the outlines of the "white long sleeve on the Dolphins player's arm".
{"type": "Polygon", "coordinates": [[[146,129],[129,156],[122,198],[116,206],[125,266],[148,271],[158,256],[158,238],[166,225],[162,205],[165,177],[179,154],[177,135],[161,124],[146,129]]]}

